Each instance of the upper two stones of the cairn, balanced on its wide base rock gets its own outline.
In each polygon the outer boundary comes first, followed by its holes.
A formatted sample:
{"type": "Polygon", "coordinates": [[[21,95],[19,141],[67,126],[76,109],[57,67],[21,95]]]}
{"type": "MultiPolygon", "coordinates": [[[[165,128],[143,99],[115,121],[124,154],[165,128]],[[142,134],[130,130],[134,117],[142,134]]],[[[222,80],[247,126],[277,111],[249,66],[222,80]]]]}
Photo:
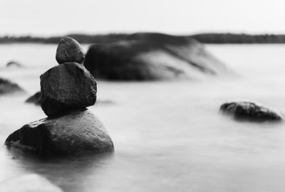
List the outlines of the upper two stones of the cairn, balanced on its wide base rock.
{"type": "Polygon", "coordinates": [[[96,102],[96,82],[82,65],[80,44],[73,38],[61,39],[56,50],[60,65],[41,75],[41,107],[51,116],[70,109],[85,108],[96,102]]]}

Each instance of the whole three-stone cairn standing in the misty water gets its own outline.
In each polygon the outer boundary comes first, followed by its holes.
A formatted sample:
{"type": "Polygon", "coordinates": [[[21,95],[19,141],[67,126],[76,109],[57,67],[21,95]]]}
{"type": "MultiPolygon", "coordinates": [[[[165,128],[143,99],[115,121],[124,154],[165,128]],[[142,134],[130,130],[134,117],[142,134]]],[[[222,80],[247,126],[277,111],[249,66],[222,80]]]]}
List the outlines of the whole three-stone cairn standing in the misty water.
{"type": "Polygon", "coordinates": [[[96,81],[82,65],[81,45],[61,39],[59,65],[41,75],[41,108],[48,116],[10,134],[7,146],[38,154],[94,154],[113,151],[113,142],[100,120],[86,109],[96,101],[96,81]]]}

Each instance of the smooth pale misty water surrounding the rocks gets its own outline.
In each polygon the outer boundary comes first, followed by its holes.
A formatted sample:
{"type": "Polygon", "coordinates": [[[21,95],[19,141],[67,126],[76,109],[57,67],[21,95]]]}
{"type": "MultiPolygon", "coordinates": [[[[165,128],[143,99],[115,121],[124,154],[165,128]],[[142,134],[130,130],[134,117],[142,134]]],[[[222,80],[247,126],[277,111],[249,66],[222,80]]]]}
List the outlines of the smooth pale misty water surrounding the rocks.
{"type": "MultiPolygon", "coordinates": [[[[88,46],[84,46],[87,49],[88,46]]],[[[98,81],[89,107],[115,144],[111,154],[38,159],[4,146],[24,124],[46,117],[26,104],[56,45],[0,45],[0,77],[26,94],[0,97],[0,181],[36,173],[64,191],[284,191],[285,124],[235,122],[231,100],[285,112],[285,45],[208,45],[234,75],[167,82],[98,81]],[[6,68],[9,60],[24,68],[6,68]],[[3,144],[3,145],[2,145],[3,144]]]]}

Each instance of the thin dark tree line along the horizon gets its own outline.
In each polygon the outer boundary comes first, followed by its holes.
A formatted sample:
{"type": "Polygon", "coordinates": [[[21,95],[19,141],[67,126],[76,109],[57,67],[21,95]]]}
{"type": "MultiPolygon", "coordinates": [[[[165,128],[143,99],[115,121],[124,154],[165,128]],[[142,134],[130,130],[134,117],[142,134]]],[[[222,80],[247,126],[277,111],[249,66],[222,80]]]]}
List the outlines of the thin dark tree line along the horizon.
{"type": "MultiPolygon", "coordinates": [[[[127,33],[110,33],[100,35],[69,34],[79,43],[110,43],[128,38],[127,33]]],[[[285,43],[285,35],[260,34],[249,35],[246,33],[200,33],[192,36],[201,43],[285,43]]],[[[0,43],[58,43],[63,36],[36,37],[36,36],[1,36],[0,43]]]]}

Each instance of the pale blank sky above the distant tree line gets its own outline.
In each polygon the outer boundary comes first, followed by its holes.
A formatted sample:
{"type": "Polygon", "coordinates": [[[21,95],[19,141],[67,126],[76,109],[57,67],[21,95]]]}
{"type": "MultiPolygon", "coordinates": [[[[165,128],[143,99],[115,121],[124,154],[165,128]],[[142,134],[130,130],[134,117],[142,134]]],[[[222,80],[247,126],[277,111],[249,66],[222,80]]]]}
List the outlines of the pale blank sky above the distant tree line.
{"type": "Polygon", "coordinates": [[[0,35],[285,33],[284,0],[0,0],[0,35]]]}

